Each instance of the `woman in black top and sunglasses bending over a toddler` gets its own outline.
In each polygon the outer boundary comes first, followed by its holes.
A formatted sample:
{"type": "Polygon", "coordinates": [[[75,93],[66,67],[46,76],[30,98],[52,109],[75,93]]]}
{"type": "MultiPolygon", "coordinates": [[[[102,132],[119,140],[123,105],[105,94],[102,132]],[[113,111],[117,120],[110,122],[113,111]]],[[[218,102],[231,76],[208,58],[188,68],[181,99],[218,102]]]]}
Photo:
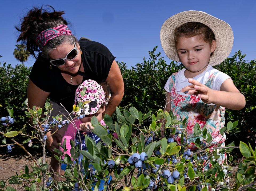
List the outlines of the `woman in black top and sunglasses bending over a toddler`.
{"type": "MultiPolygon", "coordinates": [[[[65,109],[69,113],[72,111],[79,84],[86,79],[98,83],[106,80],[111,89],[111,105],[105,113],[112,115],[124,93],[123,78],[115,57],[98,42],[78,41],[62,14],[63,11],[54,9],[47,12],[42,7],[34,8],[23,18],[21,26],[16,27],[21,32],[17,42],[26,42],[27,50],[37,59],[27,86],[28,105],[43,108],[49,97],[54,108],[51,115],[63,113],[67,116],[65,109]]],[[[61,142],[65,130],[66,127],[61,128],[53,136],[50,136],[51,132],[46,134],[49,151],[59,148],[57,143],[61,142]]],[[[53,156],[51,166],[55,172],[59,170],[57,164],[53,156]]]]}

